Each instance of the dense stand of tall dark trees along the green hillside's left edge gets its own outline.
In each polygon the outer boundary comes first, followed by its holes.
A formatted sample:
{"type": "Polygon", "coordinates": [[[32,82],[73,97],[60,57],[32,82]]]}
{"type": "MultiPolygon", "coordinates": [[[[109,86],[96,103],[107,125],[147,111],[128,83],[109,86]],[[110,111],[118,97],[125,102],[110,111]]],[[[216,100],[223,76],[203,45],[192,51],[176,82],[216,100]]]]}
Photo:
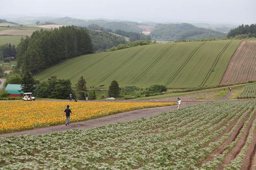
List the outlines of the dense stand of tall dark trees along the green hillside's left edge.
{"type": "Polygon", "coordinates": [[[88,29],[76,26],[35,31],[31,37],[21,39],[17,50],[18,66],[32,74],[66,59],[94,52],[88,29]]]}

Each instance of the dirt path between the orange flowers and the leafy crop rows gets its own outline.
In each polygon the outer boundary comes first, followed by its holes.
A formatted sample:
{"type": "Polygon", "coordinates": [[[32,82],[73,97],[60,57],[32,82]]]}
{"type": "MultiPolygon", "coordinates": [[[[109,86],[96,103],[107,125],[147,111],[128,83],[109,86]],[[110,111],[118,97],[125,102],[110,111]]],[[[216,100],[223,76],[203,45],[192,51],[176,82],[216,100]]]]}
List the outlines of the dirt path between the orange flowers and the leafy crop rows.
{"type": "MultiPolygon", "coordinates": [[[[195,105],[198,103],[203,103],[206,101],[197,101],[197,102],[183,102],[181,108],[195,105]]],[[[57,131],[64,131],[64,130],[70,130],[70,129],[89,129],[96,126],[101,125],[107,125],[117,122],[125,122],[125,121],[131,121],[135,119],[140,118],[147,118],[152,115],[156,115],[162,112],[169,112],[171,110],[177,109],[177,106],[165,106],[165,107],[156,107],[156,108],[148,108],[148,109],[141,109],[141,110],[133,110],[129,112],[123,112],[123,113],[117,113],[101,118],[96,118],[88,121],[79,121],[79,122],[73,122],[70,123],[68,126],[63,125],[55,125],[55,126],[49,126],[49,127],[42,127],[39,129],[31,129],[31,130],[25,130],[21,132],[12,132],[12,133],[4,133],[0,134],[0,137],[5,136],[19,136],[19,135],[25,135],[25,134],[31,134],[31,135],[38,135],[43,133],[49,133],[49,132],[57,132],[57,131]]],[[[71,117],[72,119],[72,117],[71,117]]],[[[63,122],[65,123],[65,122],[63,122]]]]}

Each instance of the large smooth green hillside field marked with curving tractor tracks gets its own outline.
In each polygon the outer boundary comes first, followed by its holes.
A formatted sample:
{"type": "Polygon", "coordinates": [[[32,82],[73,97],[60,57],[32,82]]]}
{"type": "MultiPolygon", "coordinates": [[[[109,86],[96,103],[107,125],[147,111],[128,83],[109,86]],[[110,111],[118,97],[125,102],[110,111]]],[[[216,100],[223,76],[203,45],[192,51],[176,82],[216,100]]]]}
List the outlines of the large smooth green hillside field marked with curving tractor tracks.
{"type": "Polygon", "coordinates": [[[73,86],[83,75],[87,87],[195,88],[218,85],[240,40],[167,43],[88,54],[64,61],[36,74],[45,81],[52,75],[70,79],[73,86]]]}

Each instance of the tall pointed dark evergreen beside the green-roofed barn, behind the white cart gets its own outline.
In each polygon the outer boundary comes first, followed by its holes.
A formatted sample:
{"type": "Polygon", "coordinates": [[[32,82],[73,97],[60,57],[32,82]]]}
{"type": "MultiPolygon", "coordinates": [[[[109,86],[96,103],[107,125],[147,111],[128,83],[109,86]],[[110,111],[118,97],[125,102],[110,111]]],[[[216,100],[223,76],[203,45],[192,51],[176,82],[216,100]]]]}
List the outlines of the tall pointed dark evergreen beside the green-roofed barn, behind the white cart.
{"type": "Polygon", "coordinates": [[[22,81],[21,81],[21,90],[24,93],[32,92],[34,93],[35,91],[35,80],[32,76],[32,73],[30,71],[27,71],[23,76],[22,76],[22,81]]]}

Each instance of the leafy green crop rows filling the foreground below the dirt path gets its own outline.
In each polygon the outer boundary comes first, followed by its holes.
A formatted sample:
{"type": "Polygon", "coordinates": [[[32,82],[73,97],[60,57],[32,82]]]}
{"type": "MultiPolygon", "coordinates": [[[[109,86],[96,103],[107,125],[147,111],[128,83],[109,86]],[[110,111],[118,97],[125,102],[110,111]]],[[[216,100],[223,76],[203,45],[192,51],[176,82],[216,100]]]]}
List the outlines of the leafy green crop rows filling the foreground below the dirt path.
{"type": "MultiPolygon", "coordinates": [[[[0,169],[217,169],[254,118],[255,107],[256,100],[209,102],[92,129],[4,137],[0,169]],[[203,164],[245,119],[224,152],[203,164]]],[[[227,169],[242,166],[254,133],[227,169]]]]}

